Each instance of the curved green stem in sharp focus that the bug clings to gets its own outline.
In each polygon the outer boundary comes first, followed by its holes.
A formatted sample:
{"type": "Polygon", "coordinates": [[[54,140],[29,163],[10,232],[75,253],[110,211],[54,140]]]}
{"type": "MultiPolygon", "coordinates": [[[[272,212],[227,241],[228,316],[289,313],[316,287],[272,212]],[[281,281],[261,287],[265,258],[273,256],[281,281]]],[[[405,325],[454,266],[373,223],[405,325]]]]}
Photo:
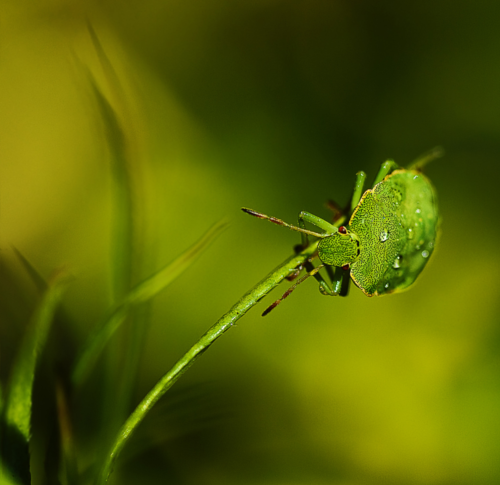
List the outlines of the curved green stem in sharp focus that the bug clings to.
{"type": "Polygon", "coordinates": [[[267,294],[286,276],[295,272],[316,251],[317,241],[307,246],[302,252],[286,259],[253,288],[247,291],[230,309],[223,314],[199,339],[180,357],[168,372],[156,382],[154,387],[139,402],[118,431],[106,456],[97,484],[107,482],[113,470],[114,461],[132,435],[137,425],[144,419],[155,402],[173,385],[173,383],[193,364],[193,362],[220,336],[227,331],[247,310],[267,294]]]}

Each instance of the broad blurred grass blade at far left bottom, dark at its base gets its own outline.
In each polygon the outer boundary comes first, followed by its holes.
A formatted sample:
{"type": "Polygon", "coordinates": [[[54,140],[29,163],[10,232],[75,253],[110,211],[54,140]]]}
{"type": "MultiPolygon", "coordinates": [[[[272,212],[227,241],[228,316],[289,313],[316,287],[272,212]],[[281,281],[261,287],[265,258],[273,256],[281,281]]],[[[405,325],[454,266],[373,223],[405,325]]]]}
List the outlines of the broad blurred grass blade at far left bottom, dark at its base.
{"type": "Polygon", "coordinates": [[[64,278],[52,277],[28,324],[12,365],[2,416],[1,456],[4,472],[20,483],[31,483],[29,450],[31,393],[36,364],[45,345],[54,312],[60,302],[64,278]]]}

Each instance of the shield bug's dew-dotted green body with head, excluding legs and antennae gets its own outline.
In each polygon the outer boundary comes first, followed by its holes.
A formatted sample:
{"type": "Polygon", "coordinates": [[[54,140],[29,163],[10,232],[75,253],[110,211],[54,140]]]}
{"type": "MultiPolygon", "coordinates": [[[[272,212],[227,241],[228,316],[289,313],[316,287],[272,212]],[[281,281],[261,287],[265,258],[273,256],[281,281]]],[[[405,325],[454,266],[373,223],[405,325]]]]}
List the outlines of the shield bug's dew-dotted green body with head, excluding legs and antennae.
{"type": "Polygon", "coordinates": [[[319,241],[319,259],[349,264],[352,280],[368,296],[401,291],[432,254],[436,226],[437,203],[428,178],[416,170],[397,169],[366,190],[352,212],[346,229],[359,242],[359,255],[336,260],[333,234],[319,241]]]}

